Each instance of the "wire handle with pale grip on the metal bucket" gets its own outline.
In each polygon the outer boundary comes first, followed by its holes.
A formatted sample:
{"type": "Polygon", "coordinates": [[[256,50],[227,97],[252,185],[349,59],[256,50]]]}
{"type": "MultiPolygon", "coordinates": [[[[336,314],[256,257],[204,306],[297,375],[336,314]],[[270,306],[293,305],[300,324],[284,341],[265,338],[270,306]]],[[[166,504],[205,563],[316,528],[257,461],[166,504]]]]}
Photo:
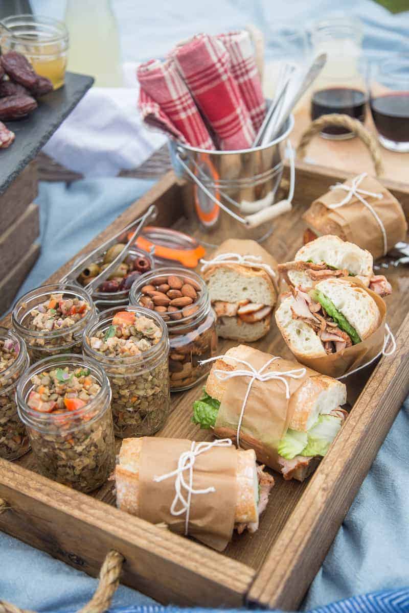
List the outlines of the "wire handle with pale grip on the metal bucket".
{"type": "MultiPolygon", "coordinates": [[[[220,200],[218,200],[217,198],[215,198],[215,196],[213,196],[213,194],[207,189],[207,187],[202,183],[202,181],[199,180],[199,178],[196,177],[194,172],[192,172],[191,169],[189,169],[189,167],[187,166],[187,164],[185,164],[184,160],[186,159],[186,154],[183,151],[183,149],[180,147],[177,147],[176,149],[177,161],[180,163],[183,170],[185,170],[186,174],[197,185],[197,187],[201,189],[204,192],[204,194],[208,198],[210,198],[210,200],[212,200],[212,202],[214,202],[218,207],[220,207],[221,210],[227,213],[227,215],[230,215],[236,221],[239,221],[240,224],[243,224],[243,226],[247,226],[249,229],[258,227],[261,224],[266,223],[266,221],[271,221],[271,219],[275,219],[276,217],[278,217],[278,215],[282,215],[282,213],[286,213],[289,210],[291,210],[291,207],[292,207],[291,202],[292,202],[292,198],[294,197],[294,185],[296,181],[296,166],[295,166],[294,150],[291,146],[291,142],[289,141],[289,139],[286,142],[286,156],[289,159],[289,167],[290,167],[290,181],[289,181],[288,197],[284,200],[280,200],[280,202],[276,202],[275,204],[270,205],[269,207],[263,208],[261,211],[258,211],[257,213],[253,213],[252,215],[246,215],[242,217],[240,215],[237,215],[237,213],[234,213],[234,211],[226,207],[226,205],[224,205],[223,202],[220,202],[220,200]]],[[[228,197],[228,200],[229,202],[234,204],[237,208],[239,209],[241,208],[239,202],[236,202],[230,197],[228,197]]]]}

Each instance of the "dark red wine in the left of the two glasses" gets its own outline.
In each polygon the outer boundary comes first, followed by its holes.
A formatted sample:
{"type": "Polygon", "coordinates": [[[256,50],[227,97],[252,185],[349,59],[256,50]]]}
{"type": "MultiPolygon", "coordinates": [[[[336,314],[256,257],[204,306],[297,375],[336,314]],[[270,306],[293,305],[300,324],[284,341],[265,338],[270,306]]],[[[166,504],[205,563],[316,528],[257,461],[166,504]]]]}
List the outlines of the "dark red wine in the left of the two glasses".
{"type": "MultiPolygon", "coordinates": [[[[321,115],[342,113],[364,122],[366,94],[360,89],[331,87],[318,89],[312,96],[311,116],[315,120],[321,115]]],[[[321,131],[323,136],[332,139],[349,138],[351,132],[346,128],[327,126],[321,131]]]]}

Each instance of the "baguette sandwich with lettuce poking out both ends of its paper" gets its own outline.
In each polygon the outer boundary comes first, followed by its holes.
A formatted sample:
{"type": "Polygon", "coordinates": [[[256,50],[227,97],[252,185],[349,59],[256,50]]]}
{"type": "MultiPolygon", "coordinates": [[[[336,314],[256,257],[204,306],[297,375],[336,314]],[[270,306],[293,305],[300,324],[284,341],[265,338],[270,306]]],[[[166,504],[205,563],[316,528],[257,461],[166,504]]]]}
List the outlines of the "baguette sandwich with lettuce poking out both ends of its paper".
{"type": "MultiPolygon", "coordinates": [[[[236,441],[237,430],[231,423],[227,423],[229,420],[226,421],[221,414],[227,384],[226,380],[216,375],[216,371],[235,370],[237,363],[229,358],[241,358],[243,348],[245,349],[243,346],[233,347],[215,362],[201,399],[196,400],[193,405],[192,421],[195,424],[199,424],[201,428],[212,428],[215,436],[231,438],[233,441],[236,441]]],[[[270,406],[267,410],[273,412],[275,397],[269,398],[270,406]]],[[[274,438],[274,434],[269,431],[268,421],[262,427],[260,424],[256,425],[254,433],[242,430],[240,446],[254,449],[259,462],[281,473],[285,479],[304,481],[315,470],[342,427],[346,411],[340,405],[345,402],[345,384],[316,373],[315,376],[306,378],[289,399],[287,410],[291,419],[278,443],[277,453],[272,454],[266,448],[266,441],[274,438]]],[[[240,406],[237,410],[240,413],[240,406]]],[[[250,408],[246,409],[248,410],[250,408]]]]}

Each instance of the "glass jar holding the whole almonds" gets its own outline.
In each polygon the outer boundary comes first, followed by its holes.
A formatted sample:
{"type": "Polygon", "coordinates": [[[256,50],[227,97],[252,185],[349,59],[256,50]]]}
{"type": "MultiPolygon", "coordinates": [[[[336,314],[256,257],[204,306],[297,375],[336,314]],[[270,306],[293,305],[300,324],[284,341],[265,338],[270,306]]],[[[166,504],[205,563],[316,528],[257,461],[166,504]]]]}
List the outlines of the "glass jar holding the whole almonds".
{"type": "MultiPolygon", "coordinates": [[[[140,305],[143,300],[143,287],[156,287],[155,281],[164,281],[174,276],[197,288],[196,302],[189,305],[188,310],[169,312],[159,307],[158,311],[159,316],[166,322],[169,334],[170,389],[180,391],[193,387],[207,376],[212,364],[200,362],[215,356],[217,352],[216,315],[210,305],[207,285],[199,275],[188,268],[156,268],[155,271],[142,275],[132,285],[129,300],[132,305],[140,305]]],[[[151,306],[158,308],[153,303],[151,306]]]]}

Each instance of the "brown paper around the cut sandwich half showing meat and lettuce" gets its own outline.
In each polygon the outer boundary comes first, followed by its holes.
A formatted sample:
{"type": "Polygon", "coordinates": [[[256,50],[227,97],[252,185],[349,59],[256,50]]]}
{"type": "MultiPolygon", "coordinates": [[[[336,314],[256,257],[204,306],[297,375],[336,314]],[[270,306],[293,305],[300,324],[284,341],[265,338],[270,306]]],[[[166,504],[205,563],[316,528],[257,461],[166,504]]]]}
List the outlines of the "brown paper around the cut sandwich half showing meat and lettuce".
{"type": "MultiPolygon", "coordinates": [[[[346,281],[351,283],[351,277],[346,277],[346,281]]],[[[365,287],[359,279],[354,278],[353,283],[362,287],[365,292],[375,300],[378,309],[380,310],[380,324],[378,329],[365,338],[357,345],[346,347],[343,351],[329,354],[325,357],[302,357],[297,356],[297,360],[310,368],[315,368],[322,375],[328,375],[337,379],[343,375],[347,375],[348,372],[353,371],[355,368],[364,366],[370,360],[373,360],[383,349],[384,337],[385,337],[385,324],[386,324],[386,304],[380,295],[375,294],[372,290],[365,287]]]]}

